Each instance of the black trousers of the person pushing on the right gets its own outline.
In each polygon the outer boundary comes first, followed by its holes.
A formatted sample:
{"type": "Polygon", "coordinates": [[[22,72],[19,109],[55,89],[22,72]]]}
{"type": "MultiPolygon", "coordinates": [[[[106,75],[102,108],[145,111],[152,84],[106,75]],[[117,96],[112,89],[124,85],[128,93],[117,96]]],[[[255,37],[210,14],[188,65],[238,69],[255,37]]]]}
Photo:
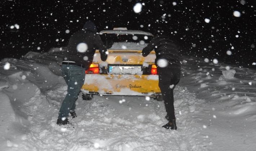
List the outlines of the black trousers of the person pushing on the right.
{"type": "Polygon", "coordinates": [[[167,112],[165,118],[167,120],[176,119],[174,111],[174,98],[173,98],[173,89],[180,81],[180,69],[176,68],[157,68],[159,75],[159,88],[163,95],[164,105],[167,112]]]}

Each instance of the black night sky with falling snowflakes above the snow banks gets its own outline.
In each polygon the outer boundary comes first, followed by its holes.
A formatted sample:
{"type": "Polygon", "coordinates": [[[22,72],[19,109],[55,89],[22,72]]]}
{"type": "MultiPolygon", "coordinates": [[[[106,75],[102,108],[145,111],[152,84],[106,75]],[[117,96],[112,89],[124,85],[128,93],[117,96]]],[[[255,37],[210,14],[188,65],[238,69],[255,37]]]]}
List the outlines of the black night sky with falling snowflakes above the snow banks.
{"type": "Polygon", "coordinates": [[[172,0],[2,0],[0,59],[20,59],[28,51],[47,52],[66,46],[70,36],[90,20],[98,32],[106,26],[153,34],[160,31],[178,41],[181,53],[256,68],[252,65],[256,62],[254,0],[175,2],[177,5],[172,0]],[[145,4],[140,13],[133,11],[136,3],[145,4]],[[233,15],[235,10],[240,17],[233,15]],[[211,21],[206,23],[205,18],[211,21]],[[15,24],[19,29],[10,28],[15,24]],[[232,55],[227,55],[227,50],[232,55]]]}

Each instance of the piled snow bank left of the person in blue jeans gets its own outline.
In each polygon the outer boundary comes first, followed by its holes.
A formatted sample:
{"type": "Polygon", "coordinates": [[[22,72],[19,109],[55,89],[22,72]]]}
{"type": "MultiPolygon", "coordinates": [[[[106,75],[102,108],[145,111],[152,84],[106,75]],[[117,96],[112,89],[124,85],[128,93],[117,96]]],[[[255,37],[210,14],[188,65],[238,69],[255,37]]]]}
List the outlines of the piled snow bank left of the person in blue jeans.
{"type": "Polygon", "coordinates": [[[27,139],[24,134],[30,133],[31,129],[28,127],[34,122],[35,114],[31,111],[36,112],[40,105],[44,104],[36,96],[50,88],[66,84],[58,64],[62,55],[38,55],[36,52],[29,52],[25,57],[28,59],[5,58],[0,64],[0,110],[3,113],[0,116],[0,133],[2,139],[6,140],[0,141],[3,148],[14,147],[10,150],[16,150],[15,148],[23,146],[20,142],[27,139]],[[3,66],[7,61],[10,68],[4,70],[3,66]],[[39,102],[35,103],[37,101],[39,102]]]}

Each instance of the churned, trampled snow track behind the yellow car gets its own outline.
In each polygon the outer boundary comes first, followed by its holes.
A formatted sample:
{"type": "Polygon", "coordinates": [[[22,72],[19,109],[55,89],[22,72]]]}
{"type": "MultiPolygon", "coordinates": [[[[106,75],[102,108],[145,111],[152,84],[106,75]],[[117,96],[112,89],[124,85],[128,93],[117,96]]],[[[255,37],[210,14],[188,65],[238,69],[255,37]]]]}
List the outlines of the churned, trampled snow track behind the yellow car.
{"type": "MultiPolygon", "coordinates": [[[[175,100],[179,102],[176,111],[177,113],[178,111],[184,113],[176,116],[179,118],[177,131],[168,131],[162,128],[162,125],[167,123],[167,120],[164,119],[166,112],[163,102],[157,102],[153,99],[146,101],[144,97],[137,96],[109,96],[109,99],[95,96],[90,101],[84,101],[79,96],[76,109],[78,117],[70,120],[75,125],[74,129],[61,131],[60,127],[56,125],[59,108],[52,107],[54,111],[45,114],[45,110],[51,104],[45,100],[47,105],[40,105],[38,109],[40,109],[40,114],[47,115],[49,125],[40,126],[39,122],[34,120],[35,123],[31,128],[32,133],[27,136],[29,142],[26,142],[25,146],[33,148],[35,143],[37,149],[44,148],[49,151],[57,149],[56,146],[67,151],[79,151],[85,150],[85,148],[99,151],[165,151],[169,148],[181,151],[193,150],[189,143],[193,137],[191,135],[193,131],[189,128],[191,125],[189,112],[187,112],[189,99],[185,100],[189,98],[188,96],[191,97],[191,93],[184,92],[183,89],[181,87],[175,91],[175,100]],[[181,94],[177,95],[177,93],[181,94]],[[182,104],[177,98],[184,99],[183,102],[186,103],[182,104]],[[120,104],[119,100],[122,99],[126,99],[126,101],[120,104]],[[99,145],[98,148],[94,146],[97,144],[99,145]]],[[[39,99],[43,99],[45,96],[39,97],[39,99]]],[[[54,97],[58,98],[58,95],[54,97]]],[[[39,99],[33,100],[39,101],[39,99]]]]}

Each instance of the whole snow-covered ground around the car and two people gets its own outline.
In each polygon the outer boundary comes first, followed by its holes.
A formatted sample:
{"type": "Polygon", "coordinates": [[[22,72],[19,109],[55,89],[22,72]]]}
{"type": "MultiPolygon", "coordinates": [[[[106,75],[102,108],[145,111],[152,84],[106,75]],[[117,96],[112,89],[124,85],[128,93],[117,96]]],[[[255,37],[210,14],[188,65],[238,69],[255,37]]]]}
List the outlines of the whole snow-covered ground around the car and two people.
{"type": "Polygon", "coordinates": [[[177,131],[162,128],[163,102],[143,96],[83,101],[81,94],[78,117],[70,119],[74,128],[64,128],[56,125],[67,92],[61,54],[26,56],[34,57],[0,63],[1,151],[256,150],[253,69],[182,56],[174,91],[177,131]]]}

